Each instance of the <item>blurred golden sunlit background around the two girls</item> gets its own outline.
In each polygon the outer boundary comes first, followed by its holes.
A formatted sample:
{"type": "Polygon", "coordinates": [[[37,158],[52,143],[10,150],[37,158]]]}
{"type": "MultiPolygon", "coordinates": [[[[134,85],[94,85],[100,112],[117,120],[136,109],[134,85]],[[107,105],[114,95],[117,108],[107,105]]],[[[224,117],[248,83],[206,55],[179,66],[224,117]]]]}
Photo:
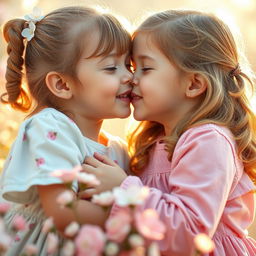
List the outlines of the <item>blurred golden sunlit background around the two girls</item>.
{"type": "MultiPolygon", "coordinates": [[[[230,26],[236,37],[239,37],[239,48],[243,48],[253,71],[256,71],[256,0],[0,0],[0,25],[2,26],[9,19],[31,13],[35,6],[41,8],[43,13],[48,13],[53,9],[69,5],[107,9],[120,15],[119,18],[126,22],[128,29],[136,27],[148,13],[166,9],[197,9],[214,13],[230,26]]],[[[0,93],[4,92],[6,59],[6,44],[1,36],[0,93]]],[[[252,105],[256,106],[256,103],[252,101],[252,105]]],[[[3,104],[0,105],[0,171],[23,118],[23,114],[16,113],[3,104]]],[[[105,121],[103,128],[125,138],[130,123],[131,118],[108,120],[105,121]]],[[[250,234],[256,238],[255,224],[251,226],[250,234]]]]}

